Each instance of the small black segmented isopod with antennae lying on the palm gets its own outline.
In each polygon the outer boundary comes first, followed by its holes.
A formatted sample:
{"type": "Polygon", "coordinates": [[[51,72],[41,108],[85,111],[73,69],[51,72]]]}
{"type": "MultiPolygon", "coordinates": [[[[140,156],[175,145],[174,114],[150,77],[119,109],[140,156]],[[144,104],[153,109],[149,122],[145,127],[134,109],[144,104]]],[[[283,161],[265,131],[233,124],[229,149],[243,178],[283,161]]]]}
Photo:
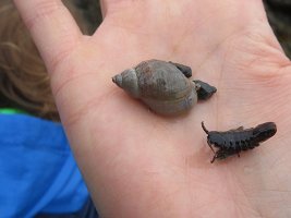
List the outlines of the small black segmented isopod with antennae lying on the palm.
{"type": "Polygon", "coordinates": [[[274,122],[266,122],[246,130],[240,126],[226,132],[208,131],[203,122],[202,128],[207,134],[209,147],[215,153],[211,162],[216,159],[225,159],[232,155],[240,156],[242,150],[253,149],[259,146],[259,143],[270,138],[277,132],[277,126],[274,122]],[[218,150],[215,152],[211,145],[217,147],[218,150]]]}

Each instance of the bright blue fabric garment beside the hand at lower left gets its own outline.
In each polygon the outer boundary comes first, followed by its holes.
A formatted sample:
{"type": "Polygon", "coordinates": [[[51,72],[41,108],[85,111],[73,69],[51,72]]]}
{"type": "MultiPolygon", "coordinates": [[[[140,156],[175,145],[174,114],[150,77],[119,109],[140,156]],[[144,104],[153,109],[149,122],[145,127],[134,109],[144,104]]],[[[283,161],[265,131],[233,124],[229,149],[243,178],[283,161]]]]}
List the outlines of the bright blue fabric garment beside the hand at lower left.
{"type": "Polygon", "coordinates": [[[0,114],[0,218],[72,213],[87,198],[61,124],[0,114]]]}

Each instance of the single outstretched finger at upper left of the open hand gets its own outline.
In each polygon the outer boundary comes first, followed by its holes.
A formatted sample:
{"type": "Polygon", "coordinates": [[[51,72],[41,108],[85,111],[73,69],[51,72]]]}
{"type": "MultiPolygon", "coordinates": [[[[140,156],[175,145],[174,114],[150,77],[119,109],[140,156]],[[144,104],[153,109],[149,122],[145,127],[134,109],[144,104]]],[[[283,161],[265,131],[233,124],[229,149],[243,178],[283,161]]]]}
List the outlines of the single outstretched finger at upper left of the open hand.
{"type": "Polygon", "coordinates": [[[60,0],[14,0],[14,3],[48,71],[53,72],[82,36],[78,26],[60,0]]]}

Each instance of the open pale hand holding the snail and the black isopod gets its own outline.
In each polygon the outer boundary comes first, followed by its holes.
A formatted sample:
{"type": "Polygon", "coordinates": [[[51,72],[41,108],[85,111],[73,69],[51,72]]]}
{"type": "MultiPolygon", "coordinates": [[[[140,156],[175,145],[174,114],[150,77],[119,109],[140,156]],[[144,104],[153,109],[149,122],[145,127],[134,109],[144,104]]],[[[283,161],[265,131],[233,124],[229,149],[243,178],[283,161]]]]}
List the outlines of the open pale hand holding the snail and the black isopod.
{"type": "Polygon", "coordinates": [[[104,0],[93,36],[59,0],[14,2],[101,217],[291,217],[291,63],[262,1],[104,0]],[[111,82],[151,58],[191,65],[218,92],[185,116],[154,114],[111,82]],[[278,132],[211,165],[202,121],[278,132]]]}

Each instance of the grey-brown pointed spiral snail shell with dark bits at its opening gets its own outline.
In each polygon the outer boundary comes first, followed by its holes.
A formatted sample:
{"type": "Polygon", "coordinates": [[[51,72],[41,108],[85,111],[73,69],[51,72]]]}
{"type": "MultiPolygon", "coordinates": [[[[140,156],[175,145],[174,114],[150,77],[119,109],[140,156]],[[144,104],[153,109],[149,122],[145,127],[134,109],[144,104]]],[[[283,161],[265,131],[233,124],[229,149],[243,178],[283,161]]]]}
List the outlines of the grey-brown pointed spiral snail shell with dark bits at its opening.
{"type": "Polygon", "coordinates": [[[161,60],[143,61],[112,77],[130,96],[141,99],[154,112],[177,116],[189,111],[198,99],[208,99],[216,88],[190,81],[190,66],[161,60]]]}

